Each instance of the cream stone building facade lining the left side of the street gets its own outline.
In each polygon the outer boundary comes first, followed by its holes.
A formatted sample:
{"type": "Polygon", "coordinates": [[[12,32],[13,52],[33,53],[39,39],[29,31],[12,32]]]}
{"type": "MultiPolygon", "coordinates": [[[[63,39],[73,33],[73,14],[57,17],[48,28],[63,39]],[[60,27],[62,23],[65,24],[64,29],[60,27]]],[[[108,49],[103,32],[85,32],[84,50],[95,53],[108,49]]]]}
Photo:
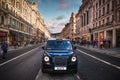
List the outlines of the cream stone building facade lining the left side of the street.
{"type": "Polygon", "coordinates": [[[0,43],[40,41],[44,20],[28,0],[0,0],[0,43]]]}

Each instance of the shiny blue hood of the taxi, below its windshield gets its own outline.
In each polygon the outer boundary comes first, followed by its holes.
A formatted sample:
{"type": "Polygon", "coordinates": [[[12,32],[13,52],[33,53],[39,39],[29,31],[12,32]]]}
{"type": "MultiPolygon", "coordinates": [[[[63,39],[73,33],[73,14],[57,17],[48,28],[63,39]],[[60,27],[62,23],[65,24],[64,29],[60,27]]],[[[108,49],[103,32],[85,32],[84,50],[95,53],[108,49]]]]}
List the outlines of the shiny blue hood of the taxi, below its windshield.
{"type": "Polygon", "coordinates": [[[68,51],[68,50],[50,50],[47,51],[47,53],[51,56],[51,57],[55,57],[55,56],[66,56],[69,57],[73,54],[73,51],[68,51]]]}

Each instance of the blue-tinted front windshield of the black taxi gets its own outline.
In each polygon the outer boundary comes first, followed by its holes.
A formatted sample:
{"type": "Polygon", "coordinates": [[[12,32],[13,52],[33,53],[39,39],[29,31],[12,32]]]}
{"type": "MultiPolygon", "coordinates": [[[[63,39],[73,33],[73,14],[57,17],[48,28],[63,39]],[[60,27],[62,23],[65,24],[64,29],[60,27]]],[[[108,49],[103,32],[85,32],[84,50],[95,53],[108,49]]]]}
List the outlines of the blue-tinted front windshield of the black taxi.
{"type": "Polygon", "coordinates": [[[46,46],[47,50],[72,50],[72,45],[68,40],[49,40],[46,46]]]}

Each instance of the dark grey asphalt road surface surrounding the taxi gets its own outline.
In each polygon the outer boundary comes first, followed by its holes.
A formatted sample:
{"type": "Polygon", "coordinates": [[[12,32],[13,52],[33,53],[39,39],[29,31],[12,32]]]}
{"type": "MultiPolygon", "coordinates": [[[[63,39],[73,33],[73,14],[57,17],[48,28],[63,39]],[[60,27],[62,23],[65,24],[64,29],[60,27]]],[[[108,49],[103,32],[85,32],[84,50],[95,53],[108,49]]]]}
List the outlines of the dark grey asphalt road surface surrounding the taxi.
{"type": "Polygon", "coordinates": [[[77,74],[41,72],[41,46],[10,51],[0,59],[0,80],[120,80],[120,59],[77,48],[77,74]]]}

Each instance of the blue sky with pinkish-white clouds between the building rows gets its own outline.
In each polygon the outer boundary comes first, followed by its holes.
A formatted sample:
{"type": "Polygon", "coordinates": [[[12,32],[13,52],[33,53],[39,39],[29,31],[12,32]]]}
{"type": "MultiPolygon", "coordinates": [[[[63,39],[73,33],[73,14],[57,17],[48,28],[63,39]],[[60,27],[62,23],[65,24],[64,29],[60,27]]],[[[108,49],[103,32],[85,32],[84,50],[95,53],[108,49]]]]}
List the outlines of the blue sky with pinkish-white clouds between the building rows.
{"type": "Polygon", "coordinates": [[[77,13],[81,0],[34,0],[51,33],[60,33],[69,22],[72,12],[77,13]]]}

